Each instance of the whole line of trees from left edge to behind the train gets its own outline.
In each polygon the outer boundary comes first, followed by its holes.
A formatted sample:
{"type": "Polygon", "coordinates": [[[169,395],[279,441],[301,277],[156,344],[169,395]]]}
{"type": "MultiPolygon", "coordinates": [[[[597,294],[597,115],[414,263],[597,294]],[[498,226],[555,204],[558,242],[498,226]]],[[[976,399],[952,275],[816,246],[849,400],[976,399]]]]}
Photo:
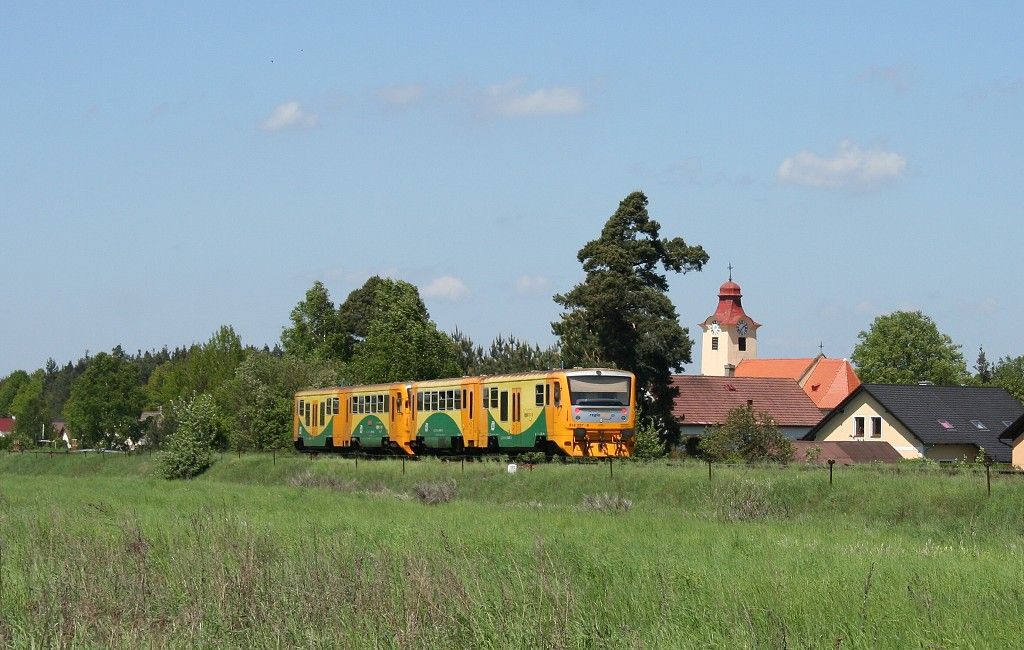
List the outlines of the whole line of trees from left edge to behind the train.
{"type": "Polygon", "coordinates": [[[311,386],[434,379],[557,367],[557,347],[513,336],[489,347],[438,331],[413,285],[371,277],[335,305],[319,281],[292,310],[282,343],[243,344],[221,327],[205,343],[126,353],[120,346],[58,366],[0,380],[0,416],[28,447],[59,435],[62,418],[83,448],[139,442],[162,447],[182,423],[202,429],[211,449],[281,448],[291,443],[292,395],[311,386]],[[140,414],[153,417],[140,420],[140,414]]]}

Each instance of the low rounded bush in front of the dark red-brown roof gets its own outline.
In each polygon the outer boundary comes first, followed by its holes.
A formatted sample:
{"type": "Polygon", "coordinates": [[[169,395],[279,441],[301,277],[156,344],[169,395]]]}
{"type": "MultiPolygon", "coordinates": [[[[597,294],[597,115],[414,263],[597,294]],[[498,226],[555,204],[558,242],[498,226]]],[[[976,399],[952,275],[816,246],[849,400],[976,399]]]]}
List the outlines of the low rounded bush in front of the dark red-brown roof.
{"type": "Polygon", "coordinates": [[[793,460],[793,443],[766,413],[736,406],[725,422],[711,427],[700,440],[700,451],[712,461],[759,463],[793,460]]]}

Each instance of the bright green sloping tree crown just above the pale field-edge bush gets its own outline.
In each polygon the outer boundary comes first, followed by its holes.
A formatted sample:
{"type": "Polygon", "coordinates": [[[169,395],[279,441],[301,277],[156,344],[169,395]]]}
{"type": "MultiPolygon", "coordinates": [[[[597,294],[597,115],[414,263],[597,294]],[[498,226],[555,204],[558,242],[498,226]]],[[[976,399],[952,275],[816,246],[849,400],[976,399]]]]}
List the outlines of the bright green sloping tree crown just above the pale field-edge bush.
{"type": "Polygon", "coordinates": [[[203,345],[193,345],[153,371],[145,386],[146,402],[164,406],[193,393],[212,393],[234,377],[244,358],[242,339],[230,326],[221,326],[203,345]]]}

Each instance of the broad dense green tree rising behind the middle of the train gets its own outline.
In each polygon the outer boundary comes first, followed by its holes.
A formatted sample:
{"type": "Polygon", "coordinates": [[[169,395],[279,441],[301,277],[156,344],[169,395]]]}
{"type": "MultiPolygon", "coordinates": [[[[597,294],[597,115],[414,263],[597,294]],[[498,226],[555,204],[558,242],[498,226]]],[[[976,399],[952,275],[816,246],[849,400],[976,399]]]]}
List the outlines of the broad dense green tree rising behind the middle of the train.
{"type": "Polygon", "coordinates": [[[459,374],[458,350],[430,320],[416,287],[382,280],[380,313],[353,352],[349,372],[360,384],[428,380],[459,374]]]}

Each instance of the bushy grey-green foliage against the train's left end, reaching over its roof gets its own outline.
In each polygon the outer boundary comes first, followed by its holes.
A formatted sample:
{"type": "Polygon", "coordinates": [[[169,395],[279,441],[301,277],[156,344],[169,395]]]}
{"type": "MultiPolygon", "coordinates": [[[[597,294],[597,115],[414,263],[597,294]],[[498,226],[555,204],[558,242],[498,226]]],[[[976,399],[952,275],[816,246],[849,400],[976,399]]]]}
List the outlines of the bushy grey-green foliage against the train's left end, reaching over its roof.
{"type": "Polygon", "coordinates": [[[340,384],[339,363],[252,351],[217,391],[231,447],[279,449],[291,444],[292,400],[302,388],[340,384]]]}

